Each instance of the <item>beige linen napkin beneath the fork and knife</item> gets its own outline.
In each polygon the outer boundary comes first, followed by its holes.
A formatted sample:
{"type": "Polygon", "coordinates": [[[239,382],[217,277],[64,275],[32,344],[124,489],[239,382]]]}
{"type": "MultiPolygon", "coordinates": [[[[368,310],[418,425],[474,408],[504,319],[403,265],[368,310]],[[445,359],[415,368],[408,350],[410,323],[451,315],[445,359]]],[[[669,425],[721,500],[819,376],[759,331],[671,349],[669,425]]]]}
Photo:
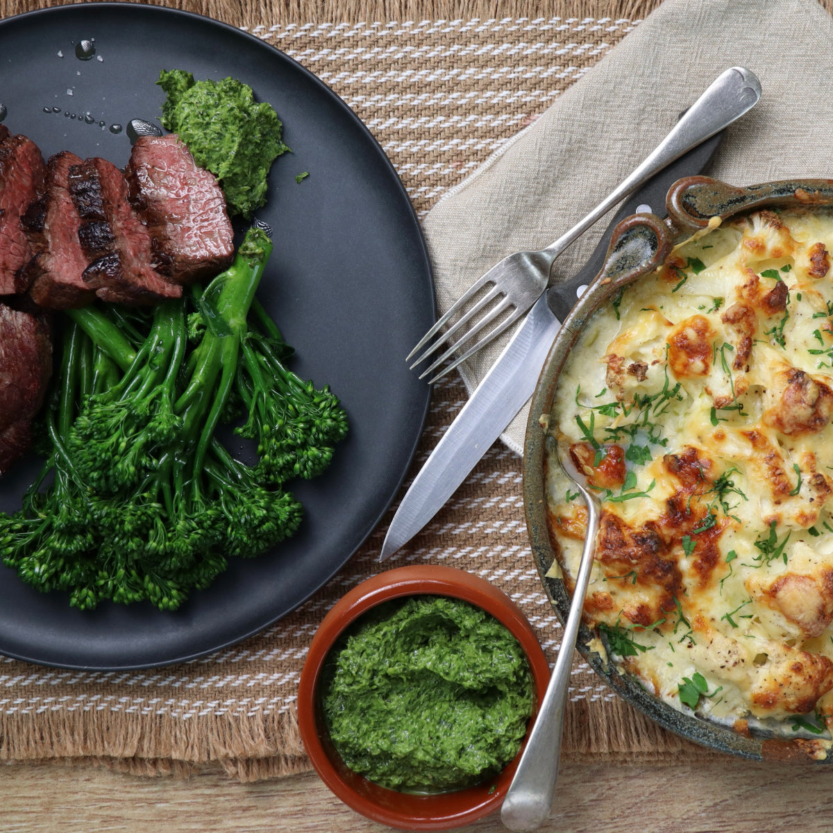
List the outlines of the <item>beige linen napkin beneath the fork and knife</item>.
{"type": "MultiPolygon", "coordinates": [[[[666,0],[426,215],[439,312],[501,257],[560,237],[738,65],[756,73],[763,95],[728,129],[711,176],[735,185],[833,177],[830,15],[815,0],[666,0]]],[[[561,255],[551,282],[581,267],[606,224],[561,255]]],[[[461,366],[470,393],[507,338],[461,366]]],[[[517,453],[528,410],[501,435],[517,453]]]]}

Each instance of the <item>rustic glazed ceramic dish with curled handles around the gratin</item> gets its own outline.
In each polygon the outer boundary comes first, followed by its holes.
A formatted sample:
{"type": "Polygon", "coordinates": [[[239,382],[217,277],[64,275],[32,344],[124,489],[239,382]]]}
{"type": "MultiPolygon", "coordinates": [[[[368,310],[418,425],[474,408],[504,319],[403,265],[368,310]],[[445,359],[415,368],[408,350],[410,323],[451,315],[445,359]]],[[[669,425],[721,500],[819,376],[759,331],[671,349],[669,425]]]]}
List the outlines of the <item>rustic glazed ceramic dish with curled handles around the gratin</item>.
{"type": "MultiPolygon", "coordinates": [[[[584,293],[561,331],[541,371],[531,400],[523,460],[524,502],[531,547],[541,581],[556,614],[566,621],[570,597],[561,579],[547,576],[556,551],[547,523],[546,459],[554,443],[542,416],[551,412],[562,367],[593,312],[607,302],[618,287],[652,272],[665,261],[676,242],[709,227],[712,217],[726,220],[764,207],[801,208],[833,204],[833,180],[767,182],[751,187],[733,187],[709,177],[686,177],[677,181],[666,198],[668,217],[652,214],[627,217],[611,238],[606,262],[584,293]]],[[[763,731],[739,734],[731,726],[684,713],[654,696],[635,677],[616,667],[590,645],[599,634],[582,624],[577,648],[588,664],[613,691],[660,726],[701,746],[751,760],[831,761],[821,741],[763,731]]],[[[604,641],[602,640],[602,644],[604,641]]],[[[826,746],[830,746],[829,742],[826,746]]]]}

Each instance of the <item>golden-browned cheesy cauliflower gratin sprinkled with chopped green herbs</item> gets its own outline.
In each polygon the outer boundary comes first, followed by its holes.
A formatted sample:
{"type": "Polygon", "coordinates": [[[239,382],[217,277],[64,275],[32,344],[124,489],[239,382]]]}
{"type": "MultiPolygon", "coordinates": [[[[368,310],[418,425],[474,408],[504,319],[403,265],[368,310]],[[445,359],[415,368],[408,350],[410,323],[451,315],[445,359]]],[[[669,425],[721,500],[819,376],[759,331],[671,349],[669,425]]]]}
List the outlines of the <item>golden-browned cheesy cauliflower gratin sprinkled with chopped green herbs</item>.
{"type": "MultiPolygon", "coordinates": [[[[712,224],[591,318],[548,421],[603,499],[587,624],[736,731],[833,727],[830,252],[833,210],[712,224]]],[[[586,510],[554,454],[550,575],[571,589],[586,510]]]]}

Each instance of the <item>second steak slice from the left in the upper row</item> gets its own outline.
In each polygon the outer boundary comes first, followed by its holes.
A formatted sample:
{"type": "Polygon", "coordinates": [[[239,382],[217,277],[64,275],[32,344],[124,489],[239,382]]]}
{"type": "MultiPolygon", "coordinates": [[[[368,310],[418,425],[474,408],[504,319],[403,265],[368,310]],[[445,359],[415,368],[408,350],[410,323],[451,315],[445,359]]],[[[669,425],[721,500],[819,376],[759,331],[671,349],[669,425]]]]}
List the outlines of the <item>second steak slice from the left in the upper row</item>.
{"type": "Polygon", "coordinates": [[[27,267],[32,278],[29,295],[39,307],[84,307],[95,297],[82,277],[89,259],[78,241],[81,218],[69,193],[69,169],[80,164],[69,151],[50,157],[43,196],[23,215],[34,251],[27,267]]]}

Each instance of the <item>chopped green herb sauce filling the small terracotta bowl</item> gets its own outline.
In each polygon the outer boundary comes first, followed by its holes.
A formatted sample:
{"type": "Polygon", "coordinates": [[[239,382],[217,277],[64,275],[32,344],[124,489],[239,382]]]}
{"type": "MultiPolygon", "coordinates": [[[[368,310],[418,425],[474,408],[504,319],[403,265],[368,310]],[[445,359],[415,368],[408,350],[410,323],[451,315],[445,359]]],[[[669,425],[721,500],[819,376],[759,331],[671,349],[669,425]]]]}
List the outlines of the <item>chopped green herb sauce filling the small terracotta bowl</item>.
{"type": "Polygon", "coordinates": [[[327,658],[322,706],[344,763],[404,792],[462,789],[517,754],[532,680],[515,636],[480,608],[409,596],[369,611],[327,658]]]}

